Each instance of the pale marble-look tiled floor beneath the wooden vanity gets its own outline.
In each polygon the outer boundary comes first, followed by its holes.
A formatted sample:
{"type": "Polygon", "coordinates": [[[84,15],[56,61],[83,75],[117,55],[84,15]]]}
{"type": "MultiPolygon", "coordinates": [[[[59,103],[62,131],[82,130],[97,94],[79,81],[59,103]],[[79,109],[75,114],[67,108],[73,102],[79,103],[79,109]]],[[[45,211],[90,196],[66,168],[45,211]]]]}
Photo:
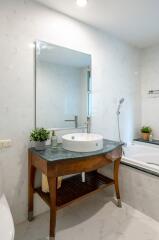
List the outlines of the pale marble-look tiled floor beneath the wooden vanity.
{"type": "MultiPolygon", "coordinates": [[[[47,240],[49,213],[16,226],[15,240],[47,240]]],[[[60,210],[56,240],[158,240],[159,223],[101,192],[60,210]]]]}

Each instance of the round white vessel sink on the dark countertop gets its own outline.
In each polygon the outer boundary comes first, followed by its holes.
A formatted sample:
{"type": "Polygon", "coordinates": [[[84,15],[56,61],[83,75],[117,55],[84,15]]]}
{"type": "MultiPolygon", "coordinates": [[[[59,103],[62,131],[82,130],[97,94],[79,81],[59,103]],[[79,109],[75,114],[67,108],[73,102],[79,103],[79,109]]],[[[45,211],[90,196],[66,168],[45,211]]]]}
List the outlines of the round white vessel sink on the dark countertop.
{"type": "Polygon", "coordinates": [[[93,133],[72,133],[62,137],[63,148],[73,152],[93,152],[103,148],[103,137],[93,133]]]}

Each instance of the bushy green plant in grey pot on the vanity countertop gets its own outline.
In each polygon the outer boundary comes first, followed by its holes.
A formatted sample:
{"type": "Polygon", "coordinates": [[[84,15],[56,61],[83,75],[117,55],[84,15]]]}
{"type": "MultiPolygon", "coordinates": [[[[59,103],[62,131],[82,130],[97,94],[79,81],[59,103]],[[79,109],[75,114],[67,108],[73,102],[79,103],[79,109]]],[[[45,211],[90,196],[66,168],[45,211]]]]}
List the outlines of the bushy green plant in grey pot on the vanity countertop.
{"type": "Polygon", "coordinates": [[[36,128],[30,134],[30,141],[35,143],[36,150],[44,150],[45,143],[49,139],[50,132],[44,128],[36,128]]]}

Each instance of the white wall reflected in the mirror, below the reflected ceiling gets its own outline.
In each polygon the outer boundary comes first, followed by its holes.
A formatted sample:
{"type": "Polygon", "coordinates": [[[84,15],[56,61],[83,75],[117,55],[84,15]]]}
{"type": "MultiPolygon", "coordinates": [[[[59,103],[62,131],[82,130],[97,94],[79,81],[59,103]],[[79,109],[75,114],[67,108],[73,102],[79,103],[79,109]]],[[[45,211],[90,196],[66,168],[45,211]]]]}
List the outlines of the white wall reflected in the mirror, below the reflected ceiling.
{"type": "Polygon", "coordinates": [[[87,116],[87,88],[84,86],[87,86],[87,79],[82,72],[81,68],[73,66],[37,61],[37,127],[74,127],[75,122],[65,121],[74,119],[74,116],[78,116],[78,126],[84,126],[87,116]]]}

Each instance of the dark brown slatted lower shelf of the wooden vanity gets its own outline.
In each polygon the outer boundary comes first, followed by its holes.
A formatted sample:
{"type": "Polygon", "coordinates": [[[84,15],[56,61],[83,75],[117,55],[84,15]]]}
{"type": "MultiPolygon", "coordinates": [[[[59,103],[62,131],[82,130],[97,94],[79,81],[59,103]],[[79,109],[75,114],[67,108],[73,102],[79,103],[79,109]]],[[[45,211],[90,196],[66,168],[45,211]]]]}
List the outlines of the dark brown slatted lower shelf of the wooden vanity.
{"type": "MultiPolygon", "coordinates": [[[[82,199],[112,184],[114,184],[114,180],[96,171],[86,173],[85,183],[82,182],[81,174],[63,179],[61,188],[57,190],[57,209],[65,207],[75,200],[82,199]]],[[[44,193],[41,187],[36,188],[35,192],[50,206],[49,193],[44,193]]]]}

